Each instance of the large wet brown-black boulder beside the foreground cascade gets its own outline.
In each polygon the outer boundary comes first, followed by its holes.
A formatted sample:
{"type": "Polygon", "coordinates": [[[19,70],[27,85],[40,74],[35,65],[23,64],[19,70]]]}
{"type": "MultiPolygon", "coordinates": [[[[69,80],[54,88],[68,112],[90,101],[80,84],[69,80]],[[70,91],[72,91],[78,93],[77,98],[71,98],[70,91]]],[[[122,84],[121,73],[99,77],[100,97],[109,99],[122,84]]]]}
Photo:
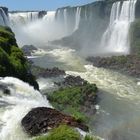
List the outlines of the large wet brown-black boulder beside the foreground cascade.
{"type": "Polygon", "coordinates": [[[46,133],[49,129],[66,124],[72,127],[78,127],[84,131],[88,131],[88,127],[78,122],[73,117],[64,115],[61,112],[47,107],[38,107],[32,109],[21,121],[25,131],[35,136],[46,133]]]}

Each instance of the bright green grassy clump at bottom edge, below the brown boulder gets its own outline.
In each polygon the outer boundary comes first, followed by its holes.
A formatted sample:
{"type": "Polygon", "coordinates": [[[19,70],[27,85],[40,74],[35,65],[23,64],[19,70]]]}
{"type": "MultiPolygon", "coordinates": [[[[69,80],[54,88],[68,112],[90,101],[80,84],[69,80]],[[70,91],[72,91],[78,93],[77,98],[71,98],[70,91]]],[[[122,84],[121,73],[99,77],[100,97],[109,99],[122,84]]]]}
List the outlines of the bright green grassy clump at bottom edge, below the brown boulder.
{"type": "Polygon", "coordinates": [[[40,136],[35,140],[81,140],[80,134],[73,128],[61,125],[54,128],[47,136],[40,136]]]}

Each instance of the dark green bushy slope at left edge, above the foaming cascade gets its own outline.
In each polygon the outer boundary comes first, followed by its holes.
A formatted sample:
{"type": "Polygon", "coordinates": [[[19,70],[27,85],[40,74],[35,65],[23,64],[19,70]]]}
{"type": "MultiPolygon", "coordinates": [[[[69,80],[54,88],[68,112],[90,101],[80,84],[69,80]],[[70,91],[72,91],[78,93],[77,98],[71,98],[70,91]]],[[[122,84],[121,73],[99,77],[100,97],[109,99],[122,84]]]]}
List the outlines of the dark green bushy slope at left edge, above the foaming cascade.
{"type": "Polygon", "coordinates": [[[14,33],[9,27],[0,26],[0,77],[4,76],[17,77],[38,89],[35,77],[29,72],[27,60],[18,48],[14,33]]]}

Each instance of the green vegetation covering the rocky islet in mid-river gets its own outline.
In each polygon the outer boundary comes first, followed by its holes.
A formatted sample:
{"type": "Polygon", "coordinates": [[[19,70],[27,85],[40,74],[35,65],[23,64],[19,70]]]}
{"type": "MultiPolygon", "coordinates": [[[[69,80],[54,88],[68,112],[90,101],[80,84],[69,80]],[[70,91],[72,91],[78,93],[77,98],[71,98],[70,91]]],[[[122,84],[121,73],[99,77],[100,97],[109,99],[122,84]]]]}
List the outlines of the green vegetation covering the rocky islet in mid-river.
{"type": "Polygon", "coordinates": [[[95,84],[85,83],[83,86],[61,88],[50,93],[48,99],[56,109],[74,116],[78,121],[86,121],[82,108],[86,106],[85,102],[95,103],[96,92],[95,84]]]}

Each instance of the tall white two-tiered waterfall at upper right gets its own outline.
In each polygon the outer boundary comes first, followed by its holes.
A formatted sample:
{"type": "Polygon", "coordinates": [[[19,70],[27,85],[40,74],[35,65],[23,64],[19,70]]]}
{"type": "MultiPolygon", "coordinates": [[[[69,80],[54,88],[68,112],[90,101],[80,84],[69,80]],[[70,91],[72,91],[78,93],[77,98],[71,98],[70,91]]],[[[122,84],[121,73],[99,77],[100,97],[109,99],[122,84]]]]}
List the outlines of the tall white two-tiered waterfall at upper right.
{"type": "Polygon", "coordinates": [[[110,24],[101,40],[107,52],[129,53],[129,28],[135,19],[136,0],[115,2],[111,9],[110,24]]]}

